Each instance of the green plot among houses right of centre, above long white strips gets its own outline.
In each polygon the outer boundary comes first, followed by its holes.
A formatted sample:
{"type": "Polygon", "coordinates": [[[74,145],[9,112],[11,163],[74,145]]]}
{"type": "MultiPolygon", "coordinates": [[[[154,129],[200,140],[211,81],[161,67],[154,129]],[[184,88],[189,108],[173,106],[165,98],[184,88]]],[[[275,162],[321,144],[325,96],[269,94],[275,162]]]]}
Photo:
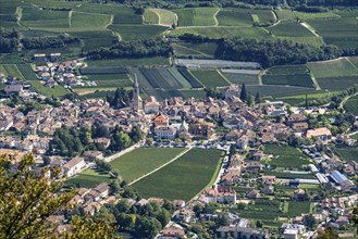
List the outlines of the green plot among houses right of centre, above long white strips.
{"type": "Polygon", "coordinates": [[[309,164],[308,159],[303,152],[289,146],[266,144],[264,153],[275,156],[269,164],[276,167],[299,169],[304,164],[309,164]]]}

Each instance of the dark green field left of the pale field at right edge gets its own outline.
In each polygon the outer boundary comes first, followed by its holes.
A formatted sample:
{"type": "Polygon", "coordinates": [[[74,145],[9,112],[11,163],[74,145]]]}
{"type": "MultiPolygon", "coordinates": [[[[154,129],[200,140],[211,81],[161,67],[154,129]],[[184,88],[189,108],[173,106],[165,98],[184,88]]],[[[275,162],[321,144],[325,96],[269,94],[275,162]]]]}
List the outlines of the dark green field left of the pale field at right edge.
{"type": "Polygon", "coordinates": [[[273,66],[262,76],[262,83],[266,85],[314,87],[306,65],[273,66]]]}

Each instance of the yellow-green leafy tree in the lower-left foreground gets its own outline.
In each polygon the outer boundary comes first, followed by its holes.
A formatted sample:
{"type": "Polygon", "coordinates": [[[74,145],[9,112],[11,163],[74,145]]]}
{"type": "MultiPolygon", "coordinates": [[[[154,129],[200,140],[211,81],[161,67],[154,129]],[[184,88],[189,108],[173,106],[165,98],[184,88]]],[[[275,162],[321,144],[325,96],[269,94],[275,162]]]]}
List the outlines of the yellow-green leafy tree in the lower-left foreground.
{"type": "MultiPolygon", "coordinates": [[[[0,155],[0,238],[113,238],[113,229],[92,219],[74,217],[70,230],[57,235],[57,225],[47,218],[62,210],[75,191],[53,197],[62,187],[62,180],[48,180],[46,169],[33,176],[34,156],[25,155],[16,171],[12,161],[0,155]]],[[[60,171],[54,168],[53,176],[60,171]]]]}

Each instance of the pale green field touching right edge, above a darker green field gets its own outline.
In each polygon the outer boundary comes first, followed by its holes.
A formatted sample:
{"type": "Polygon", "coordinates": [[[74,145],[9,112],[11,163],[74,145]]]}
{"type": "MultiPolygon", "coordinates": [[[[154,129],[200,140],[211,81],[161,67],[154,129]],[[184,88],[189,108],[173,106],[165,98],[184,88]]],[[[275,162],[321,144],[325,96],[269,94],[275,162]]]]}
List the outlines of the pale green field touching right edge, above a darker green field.
{"type": "Polygon", "coordinates": [[[322,62],[309,62],[309,70],[316,78],[357,76],[357,68],[345,58],[322,62]]]}

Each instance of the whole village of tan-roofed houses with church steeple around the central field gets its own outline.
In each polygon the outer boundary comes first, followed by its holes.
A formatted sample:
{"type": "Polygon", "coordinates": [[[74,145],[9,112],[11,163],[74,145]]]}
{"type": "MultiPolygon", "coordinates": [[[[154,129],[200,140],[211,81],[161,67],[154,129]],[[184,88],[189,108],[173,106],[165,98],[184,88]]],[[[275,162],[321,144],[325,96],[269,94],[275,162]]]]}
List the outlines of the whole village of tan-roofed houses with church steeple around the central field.
{"type": "MultiPolygon", "coordinates": [[[[51,59],[55,61],[58,56],[51,55],[51,59]]],[[[73,86],[84,84],[73,74],[72,67],[78,65],[82,65],[79,61],[50,63],[35,71],[47,87],[59,83],[73,86]]],[[[333,123],[341,113],[334,109],[291,108],[282,101],[261,100],[248,106],[240,99],[243,89],[236,85],[222,89],[222,99],[208,97],[198,101],[174,97],[159,102],[155,97],[148,97],[144,101],[136,76],[131,102],[124,108],[111,106],[104,99],[63,99],[55,104],[48,102],[38,109],[34,105],[24,109],[24,105],[13,104],[13,99],[36,101],[44,96],[12,77],[3,79],[2,76],[1,80],[7,84],[4,95],[11,97],[0,104],[0,153],[13,158],[14,168],[26,153],[35,156],[34,174],[48,168],[47,175],[51,179],[52,167],[59,167],[61,175],[67,178],[96,166],[95,161],[110,162],[121,151],[138,147],[224,151],[215,183],[189,202],[173,201],[175,211],[171,222],[157,238],[185,238],[183,225],[215,221],[215,212],[198,213],[198,205],[208,203],[218,203],[227,212],[229,223],[215,228],[219,238],[227,238],[227,235],[270,238],[270,229],[252,226],[251,217],[235,214],[235,211],[251,210],[255,207],[252,202],[260,199],[279,202],[281,211],[276,214],[287,218],[276,222],[282,224],[282,238],[311,238],[328,226],[353,235],[347,229],[351,228],[351,212],[358,202],[357,158],[356,161],[340,159],[332,146],[357,147],[357,140],[351,137],[357,134],[357,118],[350,122],[341,118],[341,124],[349,127],[337,133],[340,125],[333,126],[333,123]],[[326,118],[329,123],[322,125],[326,118]],[[110,150],[114,143],[111,137],[99,134],[88,139],[89,143],[96,144],[96,150],[86,150],[76,156],[60,155],[58,149],[49,150],[55,135],[64,127],[78,129],[94,125],[109,131],[120,128],[128,135],[140,130],[141,138],[120,150],[110,150]],[[292,162],[273,163],[284,156],[292,162]],[[309,212],[292,216],[285,201],[293,201],[289,202],[293,205],[294,202],[307,202],[309,212]],[[313,217],[314,227],[308,226],[309,216],[313,217]]],[[[165,202],[160,198],[127,198],[131,205],[140,206],[165,202]]],[[[101,183],[94,188],[79,188],[71,203],[82,206],[86,214],[95,215],[101,206],[118,203],[123,198],[113,193],[110,184],[101,183]]],[[[50,219],[63,223],[59,230],[66,227],[64,215],[53,215],[50,219]]],[[[195,238],[195,232],[193,235],[195,238]]]]}

